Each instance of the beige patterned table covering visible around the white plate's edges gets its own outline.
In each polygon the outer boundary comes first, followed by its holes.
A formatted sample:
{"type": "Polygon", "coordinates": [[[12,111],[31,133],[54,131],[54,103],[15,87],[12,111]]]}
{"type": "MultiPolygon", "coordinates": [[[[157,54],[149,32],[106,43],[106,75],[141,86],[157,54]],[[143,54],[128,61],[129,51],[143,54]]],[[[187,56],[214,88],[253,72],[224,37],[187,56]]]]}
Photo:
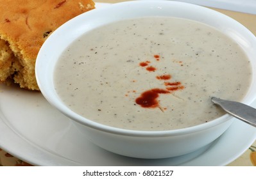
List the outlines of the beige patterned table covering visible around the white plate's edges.
{"type": "MultiPolygon", "coordinates": [[[[105,0],[96,1],[98,3],[119,3],[122,0],[105,0]]],[[[246,26],[254,35],[256,35],[256,15],[243,12],[234,12],[230,10],[223,10],[220,8],[212,8],[218,12],[224,13],[229,17],[237,20],[244,26],[246,26]]],[[[255,11],[256,12],[256,11],[255,11]]],[[[10,155],[8,152],[1,150],[0,148],[0,166],[31,166],[30,164],[17,159],[15,156],[10,155]]],[[[256,141],[243,153],[239,158],[234,160],[228,166],[256,166],[256,141]]]]}

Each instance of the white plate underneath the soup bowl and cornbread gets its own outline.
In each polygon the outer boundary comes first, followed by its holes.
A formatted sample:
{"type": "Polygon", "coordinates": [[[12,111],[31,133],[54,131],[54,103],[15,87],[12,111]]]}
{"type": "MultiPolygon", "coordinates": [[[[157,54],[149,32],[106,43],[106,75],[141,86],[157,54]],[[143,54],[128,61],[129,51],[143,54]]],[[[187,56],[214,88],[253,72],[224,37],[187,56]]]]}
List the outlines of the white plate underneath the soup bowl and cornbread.
{"type": "Polygon", "coordinates": [[[256,128],[236,120],[212,144],[187,155],[160,160],[123,157],[87,141],[41,93],[0,85],[0,148],[36,166],[224,166],[255,139],[256,128]]]}

